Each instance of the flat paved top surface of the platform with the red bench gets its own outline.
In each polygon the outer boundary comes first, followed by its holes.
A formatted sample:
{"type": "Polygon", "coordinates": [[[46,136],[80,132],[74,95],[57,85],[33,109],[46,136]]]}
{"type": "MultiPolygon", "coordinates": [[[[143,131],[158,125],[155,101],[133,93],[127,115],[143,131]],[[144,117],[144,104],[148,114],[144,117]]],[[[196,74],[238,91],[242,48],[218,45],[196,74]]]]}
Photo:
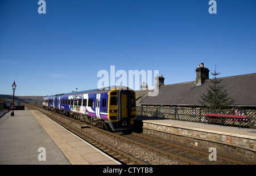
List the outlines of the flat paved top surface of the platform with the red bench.
{"type": "Polygon", "coordinates": [[[250,128],[238,128],[230,126],[220,126],[220,125],[208,125],[207,123],[196,123],[196,122],[185,122],[185,121],[174,121],[170,119],[158,119],[151,117],[138,116],[136,118],[138,121],[155,123],[158,125],[172,126],[177,128],[186,128],[188,130],[194,131],[204,131],[212,132],[216,134],[236,136],[240,138],[254,139],[256,140],[256,130],[250,128]]]}

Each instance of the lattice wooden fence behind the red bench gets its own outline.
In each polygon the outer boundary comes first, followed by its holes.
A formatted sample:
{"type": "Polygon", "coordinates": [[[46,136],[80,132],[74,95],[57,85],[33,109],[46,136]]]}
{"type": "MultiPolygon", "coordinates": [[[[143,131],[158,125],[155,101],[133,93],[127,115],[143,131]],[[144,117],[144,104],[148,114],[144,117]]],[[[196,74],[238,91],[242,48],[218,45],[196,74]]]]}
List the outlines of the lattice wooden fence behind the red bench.
{"type": "MultiPolygon", "coordinates": [[[[233,109],[226,110],[210,110],[204,108],[179,108],[168,106],[137,106],[137,115],[172,119],[177,121],[199,122],[204,123],[207,121],[205,118],[206,113],[216,114],[233,114],[233,115],[247,115],[247,121],[243,123],[243,127],[256,128],[256,110],[237,110],[237,113],[233,109]]],[[[220,121],[210,120],[212,124],[220,124],[220,121]]],[[[239,122],[225,122],[226,126],[239,126],[239,122]]]]}

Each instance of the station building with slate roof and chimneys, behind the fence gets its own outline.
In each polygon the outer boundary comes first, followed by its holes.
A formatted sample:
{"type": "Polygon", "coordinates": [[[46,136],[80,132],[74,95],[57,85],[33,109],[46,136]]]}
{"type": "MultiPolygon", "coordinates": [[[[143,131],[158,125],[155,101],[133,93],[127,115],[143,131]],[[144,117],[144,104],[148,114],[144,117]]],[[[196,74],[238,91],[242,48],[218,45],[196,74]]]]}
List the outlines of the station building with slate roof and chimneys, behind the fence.
{"type": "MultiPolygon", "coordinates": [[[[148,96],[154,90],[148,90],[146,84],[142,84],[141,96],[137,98],[139,106],[173,106],[200,108],[202,93],[207,93],[209,84],[209,69],[204,67],[204,63],[196,68],[196,80],[164,85],[164,77],[155,77],[155,89],[158,86],[157,96],[148,96]],[[159,84],[156,84],[159,80],[159,84]]],[[[221,84],[227,89],[240,109],[256,109],[256,73],[229,76],[221,79],[221,84]]]]}

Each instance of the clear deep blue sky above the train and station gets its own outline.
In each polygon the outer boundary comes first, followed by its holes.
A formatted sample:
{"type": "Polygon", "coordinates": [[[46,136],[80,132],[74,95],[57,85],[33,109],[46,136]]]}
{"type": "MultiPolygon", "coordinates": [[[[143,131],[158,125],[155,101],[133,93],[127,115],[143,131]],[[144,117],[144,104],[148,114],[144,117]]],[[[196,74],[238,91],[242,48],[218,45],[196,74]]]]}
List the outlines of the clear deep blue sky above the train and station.
{"type": "Polygon", "coordinates": [[[217,14],[208,0],[45,1],[46,14],[0,1],[0,94],[14,80],[18,96],[94,89],[110,66],[159,70],[165,84],[195,80],[201,62],[220,77],[256,72],[255,0],[216,0],[217,14]]]}

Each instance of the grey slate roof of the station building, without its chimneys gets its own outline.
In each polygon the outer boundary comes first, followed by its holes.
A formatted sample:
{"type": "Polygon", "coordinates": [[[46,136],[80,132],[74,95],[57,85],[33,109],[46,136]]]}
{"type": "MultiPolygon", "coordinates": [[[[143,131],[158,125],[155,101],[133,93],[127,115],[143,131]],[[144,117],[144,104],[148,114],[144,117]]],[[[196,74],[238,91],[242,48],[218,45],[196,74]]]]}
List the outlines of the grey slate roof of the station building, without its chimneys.
{"type": "MultiPolygon", "coordinates": [[[[221,84],[228,90],[229,96],[235,100],[238,106],[256,107],[256,73],[229,76],[222,79],[221,84]]],[[[148,96],[140,105],[179,105],[200,106],[197,100],[200,95],[207,92],[210,80],[197,85],[195,81],[163,85],[159,88],[158,96],[148,96]]]]}

